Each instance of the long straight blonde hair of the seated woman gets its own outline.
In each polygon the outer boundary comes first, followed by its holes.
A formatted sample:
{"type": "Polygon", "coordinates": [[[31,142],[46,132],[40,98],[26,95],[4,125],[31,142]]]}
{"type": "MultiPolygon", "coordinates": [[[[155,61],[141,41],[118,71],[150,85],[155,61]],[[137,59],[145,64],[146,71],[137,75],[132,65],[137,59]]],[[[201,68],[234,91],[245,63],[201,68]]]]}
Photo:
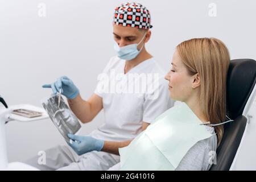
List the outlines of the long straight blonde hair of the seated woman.
{"type": "MultiPolygon", "coordinates": [[[[189,75],[200,76],[200,105],[210,123],[224,122],[226,118],[226,76],[230,56],[228,48],[215,38],[191,39],[177,46],[189,75]]],[[[214,126],[218,146],[224,134],[223,125],[214,126]]]]}

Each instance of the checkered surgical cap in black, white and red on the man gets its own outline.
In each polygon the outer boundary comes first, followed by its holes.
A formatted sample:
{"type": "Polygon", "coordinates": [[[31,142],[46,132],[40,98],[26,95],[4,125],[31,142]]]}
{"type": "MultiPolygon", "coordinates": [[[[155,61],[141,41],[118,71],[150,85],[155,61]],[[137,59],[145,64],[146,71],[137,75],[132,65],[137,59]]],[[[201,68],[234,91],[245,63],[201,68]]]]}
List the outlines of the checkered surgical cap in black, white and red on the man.
{"type": "Polygon", "coordinates": [[[140,29],[152,28],[150,11],[139,3],[122,4],[115,8],[113,24],[140,29]]]}

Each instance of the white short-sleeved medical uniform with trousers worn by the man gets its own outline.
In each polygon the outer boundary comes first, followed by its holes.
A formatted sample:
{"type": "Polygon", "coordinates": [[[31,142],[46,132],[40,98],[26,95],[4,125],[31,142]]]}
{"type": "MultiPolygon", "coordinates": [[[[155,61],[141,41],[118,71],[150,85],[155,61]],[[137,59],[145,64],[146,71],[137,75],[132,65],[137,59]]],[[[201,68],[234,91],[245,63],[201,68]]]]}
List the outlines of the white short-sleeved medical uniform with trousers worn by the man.
{"type": "MultiPolygon", "coordinates": [[[[109,79],[99,81],[94,93],[102,98],[105,123],[92,131],[89,134],[91,137],[110,141],[133,140],[141,133],[142,122],[153,122],[156,117],[174,105],[174,101],[169,96],[168,82],[164,80],[166,73],[154,58],[143,61],[127,74],[124,74],[124,68],[125,60],[115,56],[110,59],[103,71],[102,75],[108,76],[109,79]],[[156,79],[147,77],[144,85],[151,89],[127,93],[127,90],[134,88],[139,81],[142,82],[142,75],[158,78],[158,84],[152,86],[152,81],[156,79]],[[129,76],[133,79],[129,79],[129,76]],[[106,87],[102,89],[102,85],[104,83],[108,85],[108,82],[114,83],[115,88],[119,89],[113,92],[111,84],[109,89],[106,87]]],[[[39,169],[60,170],[107,170],[119,163],[118,155],[93,151],[78,156],[69,146],[57,146],[46,150],[46,158],[46,165],[37,164],[38,156],[26,163],[39,169]]]]}

